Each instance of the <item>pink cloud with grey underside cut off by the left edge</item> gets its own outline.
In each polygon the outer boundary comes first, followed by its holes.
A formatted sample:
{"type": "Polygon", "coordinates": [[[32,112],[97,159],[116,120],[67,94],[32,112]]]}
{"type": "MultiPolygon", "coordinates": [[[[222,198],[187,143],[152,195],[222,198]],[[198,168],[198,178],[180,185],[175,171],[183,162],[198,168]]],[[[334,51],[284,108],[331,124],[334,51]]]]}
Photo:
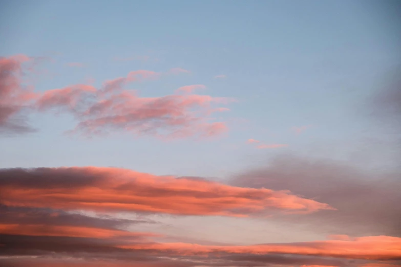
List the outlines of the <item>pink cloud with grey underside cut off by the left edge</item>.
{"type": "Polygon", "coordinates": [[[26,55],[0,57],[0,132],[27,132],[33,129],[18,117],[36,98],[33,88],[24,84],[24,63],[32,61],[26,55]]]}

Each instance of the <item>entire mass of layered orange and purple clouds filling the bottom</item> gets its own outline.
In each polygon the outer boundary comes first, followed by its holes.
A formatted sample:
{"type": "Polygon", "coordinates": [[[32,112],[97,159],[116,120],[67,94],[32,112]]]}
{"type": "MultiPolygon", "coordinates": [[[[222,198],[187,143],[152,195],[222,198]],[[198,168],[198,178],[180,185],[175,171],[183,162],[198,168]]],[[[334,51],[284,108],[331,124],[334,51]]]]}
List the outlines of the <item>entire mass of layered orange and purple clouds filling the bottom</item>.
{"type": "Polygon", "coordinates": [[[334,235],[323,241],[252,246],[165,243],[157,241],[158,233],[133,230],[158,222],[112,215],[119,211],[240,217],[271,211],[280,215],[280,210],[290,213],[286,216],[339,212],[289,191],[203,179],[97,167],[1,169],[0,204],[2,266],[393,267],[401,259],[399,237],[334,235]]]}

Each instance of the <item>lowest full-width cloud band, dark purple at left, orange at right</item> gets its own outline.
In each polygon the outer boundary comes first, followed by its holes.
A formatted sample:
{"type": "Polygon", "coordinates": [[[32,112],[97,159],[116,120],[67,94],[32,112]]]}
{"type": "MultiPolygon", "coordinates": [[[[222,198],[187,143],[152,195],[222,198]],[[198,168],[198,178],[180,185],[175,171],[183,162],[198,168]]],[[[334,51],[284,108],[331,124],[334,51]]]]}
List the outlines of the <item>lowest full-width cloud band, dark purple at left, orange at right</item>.
{"type": "MultiPolygon", "coordinates": [[[[176,266],[266,266],[267,263],[281,265],[325,265],[364,266],[366,263],[385,261],[396,263],[401,258],[401,238],[370,236],[352,241],[324,240],[298,243],[271,243],[253,246],[201,246],[190,243],[157,243],[138,239],[118,240],[113,237],[99,238],[0,235],[0,255],[50,256],[64,255],[68,258],[89,260],[124,260],[158,263],[165,259],[176,266]],[[205,257],[207,256],[207,257],[205,257]],[[330,259],[331,257],[331,259],[330,259]],[[347,264],[346,260],[365,262],[347,264]],[[219,262],[219,265],[215,265],[219,262]],[[259,263],[259,264],[258,264],[259,263]],[[265,263],[265,264],[263,264],[265,263]],[[185,265],[188,264],[188,265],[185,265]]],[[[62,262],[62,258],[59,262],[62,262]]],[[[31,259],[35,262],[35,259],[31,259]]],[[[165,266],[165,265],[155,265],[165,266]]],[[[173,265],[174,266],[174,265],[173,265]]],[[[369,265],[366,265],[369,266],[369,265]]]]}

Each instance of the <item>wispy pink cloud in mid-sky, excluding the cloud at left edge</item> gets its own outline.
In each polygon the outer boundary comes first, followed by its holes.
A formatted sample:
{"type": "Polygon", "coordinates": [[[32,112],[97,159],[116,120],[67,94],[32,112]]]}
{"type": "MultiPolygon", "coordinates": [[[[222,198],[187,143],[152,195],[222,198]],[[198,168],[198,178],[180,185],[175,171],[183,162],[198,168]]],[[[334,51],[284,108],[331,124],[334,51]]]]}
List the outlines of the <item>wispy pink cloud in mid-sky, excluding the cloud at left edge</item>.
{"type": "Polygon", "coordinates": [[[105,81],[97,90],[92,85],[77,84],[43,93],[35,103],[37,110],[70,112],[78,124],[71,133],[86,136],[122,130],[135,136],[151,135],[163,139],[206,138],[227,131],[225,122],[209,116],[229,110],[219,107],[234,101],[230,98],[195,95],[191,91],[204,85],[188,85],[178,89],[186,93],[162,97],[139,97],[124,90],[133,81],[154,79],[160,73],[139,70],[126,77],[105,81]]]}

